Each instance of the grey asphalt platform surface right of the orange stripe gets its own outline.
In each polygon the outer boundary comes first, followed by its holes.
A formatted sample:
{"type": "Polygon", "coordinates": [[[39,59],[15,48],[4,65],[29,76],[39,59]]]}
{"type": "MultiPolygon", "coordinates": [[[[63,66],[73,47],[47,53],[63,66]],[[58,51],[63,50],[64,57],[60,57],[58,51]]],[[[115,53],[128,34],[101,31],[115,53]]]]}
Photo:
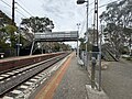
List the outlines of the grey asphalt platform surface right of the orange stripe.
{"type": "Polygon", "coordinates": [[[90,84],[87,70],[77,64],[74,55],[53,99],[88,99],[86,85],[90,84]]]}

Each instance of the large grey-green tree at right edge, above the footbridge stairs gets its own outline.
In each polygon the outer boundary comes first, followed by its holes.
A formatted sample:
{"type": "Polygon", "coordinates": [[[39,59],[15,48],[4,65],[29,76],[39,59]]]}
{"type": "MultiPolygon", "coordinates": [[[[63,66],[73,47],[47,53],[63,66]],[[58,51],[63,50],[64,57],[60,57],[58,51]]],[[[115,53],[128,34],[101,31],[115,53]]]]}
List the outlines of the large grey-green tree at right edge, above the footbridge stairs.
{"type": "Polygon", "coordinates": [[[121,52],[123,46],[129,45],[132,28],[132,1],[121,0],[107,6],[100,20],[107,23],[105,33],[109,35],[108,42],[111,46],[121,52]]]}

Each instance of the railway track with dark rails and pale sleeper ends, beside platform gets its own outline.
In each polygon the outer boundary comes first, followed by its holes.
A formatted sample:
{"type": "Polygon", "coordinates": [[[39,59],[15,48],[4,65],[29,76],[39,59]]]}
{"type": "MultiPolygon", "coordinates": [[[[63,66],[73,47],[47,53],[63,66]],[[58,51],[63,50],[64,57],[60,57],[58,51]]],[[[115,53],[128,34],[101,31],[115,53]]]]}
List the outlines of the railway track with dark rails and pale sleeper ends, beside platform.
{"type": "Polygon", "coordinates": [[[45,69],[57,63],[68,54],[62,54],[44,62],[19,68],[15,70],[7,72],[0,75],[0,98],[1,99],[26,99],[31,90],[34,90],[42,84],[48,74],[45,69]],[[29,86],[29,87],[28,87],[29,86]],[[16,88],[16,90],[14,89],[16,88]],[[21,90],[18,90],[18,88],[21,90]],[[14,90],[13,90],[14,89],[14,90]],[[25,91],[22,91],[28,89],[25,91]],[[8,95],[7,95],[8,94],[8,95]],[[19,95],[19,96],[18,96],[19,95]],[[24,96],[24,97],[23,97],[24,96]],[[13,98],[8,98],[13,97],[13,98]]]}

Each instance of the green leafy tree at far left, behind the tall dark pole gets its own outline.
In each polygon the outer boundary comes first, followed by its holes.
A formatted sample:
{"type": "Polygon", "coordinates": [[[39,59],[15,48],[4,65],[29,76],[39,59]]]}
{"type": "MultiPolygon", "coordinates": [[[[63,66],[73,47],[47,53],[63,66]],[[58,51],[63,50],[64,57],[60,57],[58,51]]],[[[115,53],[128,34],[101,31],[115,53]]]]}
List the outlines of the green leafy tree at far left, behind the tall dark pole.
{"type": "MultiPolygon", "coordinates": [[[[15,47],[16,26],[11,25],[12,20],[0,10],[0,47],[15,47]]],[[[15,23],[13,23],[15,25],[15,23]]]]}

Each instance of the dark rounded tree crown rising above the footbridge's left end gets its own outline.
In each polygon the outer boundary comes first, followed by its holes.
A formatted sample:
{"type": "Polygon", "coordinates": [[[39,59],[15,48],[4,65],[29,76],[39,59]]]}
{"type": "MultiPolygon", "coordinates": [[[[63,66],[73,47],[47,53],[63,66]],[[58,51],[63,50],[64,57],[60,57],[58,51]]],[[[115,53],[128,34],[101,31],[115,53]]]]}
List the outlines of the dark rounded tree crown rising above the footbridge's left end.
{"type": "Polygon", "coordinates": [[[31,16],[29,19],[22,19],[21,24],[25,29],[31,29],[33,33],[52,31],[54,29],[53,21],[48,18],[31,16]]]}

